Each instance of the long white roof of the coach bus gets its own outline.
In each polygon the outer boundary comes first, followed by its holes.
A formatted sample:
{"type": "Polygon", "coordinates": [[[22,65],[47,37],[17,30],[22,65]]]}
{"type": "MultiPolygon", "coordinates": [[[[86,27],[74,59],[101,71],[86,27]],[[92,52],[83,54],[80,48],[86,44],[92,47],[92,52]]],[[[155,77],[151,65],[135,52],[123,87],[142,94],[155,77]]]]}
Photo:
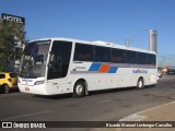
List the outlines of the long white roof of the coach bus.
{"type": "MultiPolygon", "coordinates": [[[[66,41],[90,44],[90,45],[96,45],[96,46],[119,48],[119,49],[141,51],[141,52],[149,52],[149,53],[156,55],[154,51],[150,51],[150,50],[147,50],[147,49],[140,49],[140,48],[135,48],[135,47],[127,47],[127,46],[122,46],[122,45],[118,45],[118,44],[114,44],[114,43],[108,43],[108,41],[102,41],[102,40],[88,41],[88,40],[80,40],[80,39],[74,39],[74,38],[63,38],[63,37],[42,38],[42,39],[35,39],[35,40],[66,40],[66,41]]],[[[35,40],[32,40],[32,41],[35,41],[35,40]]]]}

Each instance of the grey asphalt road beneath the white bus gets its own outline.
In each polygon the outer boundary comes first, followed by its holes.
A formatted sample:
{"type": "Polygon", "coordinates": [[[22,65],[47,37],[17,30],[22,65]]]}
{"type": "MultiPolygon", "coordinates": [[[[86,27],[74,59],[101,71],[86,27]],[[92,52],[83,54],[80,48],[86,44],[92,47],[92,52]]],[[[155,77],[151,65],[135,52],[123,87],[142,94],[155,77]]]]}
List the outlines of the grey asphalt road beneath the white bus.
{"type": "Polygon", "coordinates": [[[38,96],[0,94],[0,121],[117,121],[140,110],[175,100],[175,75],[162,78],[156,87],[38,96]]]}

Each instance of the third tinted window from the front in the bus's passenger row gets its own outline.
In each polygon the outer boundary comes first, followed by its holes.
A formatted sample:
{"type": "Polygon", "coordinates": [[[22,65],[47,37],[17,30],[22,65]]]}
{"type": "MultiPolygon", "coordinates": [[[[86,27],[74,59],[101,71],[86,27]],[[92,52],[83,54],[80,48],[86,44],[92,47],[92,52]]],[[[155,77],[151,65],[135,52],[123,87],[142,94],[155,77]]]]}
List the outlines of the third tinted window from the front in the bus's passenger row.
{"type": "Polygon", "coordinates": [[[112,49],[112,62],[125,63],[125,51],[122,49],[112,49]]]}

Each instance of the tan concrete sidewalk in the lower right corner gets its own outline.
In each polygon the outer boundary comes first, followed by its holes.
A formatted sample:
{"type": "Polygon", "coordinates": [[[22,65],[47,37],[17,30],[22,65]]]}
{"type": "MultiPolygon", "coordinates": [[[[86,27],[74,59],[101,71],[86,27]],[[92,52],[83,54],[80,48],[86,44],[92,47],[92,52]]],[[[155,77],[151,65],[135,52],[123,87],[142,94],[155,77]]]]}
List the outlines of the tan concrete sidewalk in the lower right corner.
{"type": "MultiPolygon", "coordinates": [[[[175,126],[175,102],[160,105],[143,111],[136,112],[128,117],[119,120],[119,122],[125,123],[125,121],[174,121],[175,126]]],[[[135,122],[133,122],[135,123],[135,122]]],[[[145,122],[147,123],[147,122],[145,122]]],[[[168,122],[167,122],[168,124],[168,122]]],[[[171,127],[171,124],[168,124],[171,127]]],[[[175,128],[97,128],[91,131],[175,131],[175,128]]]]}

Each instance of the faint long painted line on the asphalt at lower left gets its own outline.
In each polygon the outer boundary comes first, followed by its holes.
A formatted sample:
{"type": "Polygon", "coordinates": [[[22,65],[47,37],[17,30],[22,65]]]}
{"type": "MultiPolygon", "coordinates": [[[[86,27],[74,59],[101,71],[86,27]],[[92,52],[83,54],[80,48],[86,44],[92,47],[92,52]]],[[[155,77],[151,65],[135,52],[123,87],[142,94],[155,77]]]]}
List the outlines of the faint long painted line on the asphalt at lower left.
{"type": "Polygon", "coordinates": [[[9,120],[9,119],[16,119],[16,118],[24,118],[24,117],[31,117],[31,116],[35,116],[35,115],[42,115],[42,114],[48,114],[51,112],[51,110],[46,110],[46,111],[39,111],[39,112],[35,112],[35,114],[27,114],[27,115],[21,115],[21,116],[14,116],[14,117],[8,117],[8,118],[2,118],[0,120],[9,120]]]}

